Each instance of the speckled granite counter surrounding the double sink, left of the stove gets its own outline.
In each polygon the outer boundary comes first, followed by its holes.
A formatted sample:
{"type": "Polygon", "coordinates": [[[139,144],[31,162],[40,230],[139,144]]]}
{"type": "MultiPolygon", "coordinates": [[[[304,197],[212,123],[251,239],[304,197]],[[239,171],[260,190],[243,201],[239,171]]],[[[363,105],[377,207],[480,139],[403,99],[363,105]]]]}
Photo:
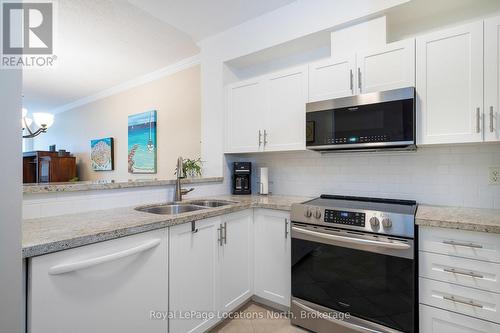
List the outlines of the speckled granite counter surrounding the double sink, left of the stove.
{"type": "Polygon", "coordinates": [[[170,216],[144,213],[136,211],[135,207],[125,207],[24,220],[23,257],[34,257],[248,208],[290,210],[292,203],[303,202],[310,198],[218,196],[210,199],[230,200],[236,203],[170,216]]]}

